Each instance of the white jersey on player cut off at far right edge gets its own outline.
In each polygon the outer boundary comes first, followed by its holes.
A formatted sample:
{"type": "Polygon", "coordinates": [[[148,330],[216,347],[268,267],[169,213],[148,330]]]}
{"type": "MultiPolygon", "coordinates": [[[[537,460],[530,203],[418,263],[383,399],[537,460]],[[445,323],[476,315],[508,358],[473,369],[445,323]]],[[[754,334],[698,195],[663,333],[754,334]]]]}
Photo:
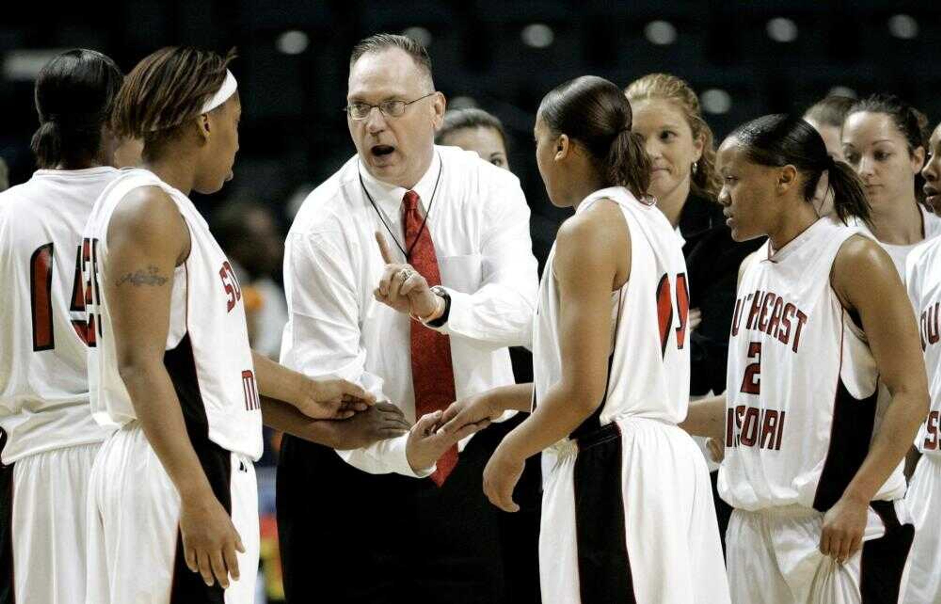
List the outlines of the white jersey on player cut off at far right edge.
{"type": "Polygon", "coordinates": [[[928,392],[932,404],[928,418],[918,429],[915,446],[926,455],[941,454],[941,238],[917,246],[908,256],[905,285],[915,307],[915,318],[921,334],[921,350],[928,374],[928,392]]]}

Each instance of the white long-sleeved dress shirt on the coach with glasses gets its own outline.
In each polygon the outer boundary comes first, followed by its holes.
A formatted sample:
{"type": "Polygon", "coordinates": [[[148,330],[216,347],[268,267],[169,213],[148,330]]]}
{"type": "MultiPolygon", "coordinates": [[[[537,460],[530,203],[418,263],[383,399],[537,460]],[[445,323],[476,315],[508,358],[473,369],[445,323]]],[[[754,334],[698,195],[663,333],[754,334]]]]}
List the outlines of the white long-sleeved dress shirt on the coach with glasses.
{"type": "MultiPolygon", "coordinates": [[[[413,190],[451,295],[448,321],[438,330],[450,336],[457,398],[512,384],[507,346],[531,345],[538,288],[530,211],[517,177],[475,152],[436,146],[413,190]]],[[[405,246],[406,191],[373,178],[354,156],[304,201],[284,251],[289,321],[281,363],[357,382],[415,420],[412,321],[373,297],[385,268],[375,231],[385,235],[397,262],[406,262],[392,241],[405,246]]],[[[410,468],[406,442],[403,435],[337,453],[371,473],[430,474],[434,467],[410,468]]]]}

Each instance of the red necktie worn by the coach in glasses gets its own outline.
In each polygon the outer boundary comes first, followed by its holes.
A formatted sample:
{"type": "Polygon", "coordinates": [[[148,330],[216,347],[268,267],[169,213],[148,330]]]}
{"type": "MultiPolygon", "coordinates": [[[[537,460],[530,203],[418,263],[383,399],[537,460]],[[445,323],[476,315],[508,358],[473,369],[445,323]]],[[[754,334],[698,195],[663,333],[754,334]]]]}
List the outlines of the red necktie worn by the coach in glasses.
{"type": "MultiPolygon", "coordinates": [[[[402,199],[403,223],[406,230],[408,262],[428,285],[440,285],[438,257],[431,231],[418,210],[419,197],[408,191],[402,199]]],[[[445,409],[455,401],[455,370],[451,363],[451,342],[448,336],[411,322],[412,386],[415,389],[415,418],[445,409]]],[[[448,449],[438,460],[438,469],[431,475],[436,485],[444,484],[457,465],[457,446],[448,449]]]]}

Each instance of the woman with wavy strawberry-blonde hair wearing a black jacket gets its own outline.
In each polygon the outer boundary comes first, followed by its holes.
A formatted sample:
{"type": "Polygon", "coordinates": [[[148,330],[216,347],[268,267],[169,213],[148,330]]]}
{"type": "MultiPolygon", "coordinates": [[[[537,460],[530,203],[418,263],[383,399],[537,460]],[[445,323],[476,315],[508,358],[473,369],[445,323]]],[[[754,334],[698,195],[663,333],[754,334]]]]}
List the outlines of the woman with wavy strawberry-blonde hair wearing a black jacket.
{"type": "MultiPolygon", "coordinates": [[[[722,179],[715,171],[712,131],[693,88],[675,75],[648,73],[625,90],[633,110],[632,130],[644,137],[653,162],[650,195],[683,239],[690,282],[690,395],[726,389],[728,326],[735,306],[735,280],[742,260],[760,240],[736,243],[716,196],[722,179]]],[[[705,439],[697,439],[705,452],[705,439]]],[[[726,533],[732,510],[714,490],[719,464],[706,458],[719,520],[726,533]]]]}

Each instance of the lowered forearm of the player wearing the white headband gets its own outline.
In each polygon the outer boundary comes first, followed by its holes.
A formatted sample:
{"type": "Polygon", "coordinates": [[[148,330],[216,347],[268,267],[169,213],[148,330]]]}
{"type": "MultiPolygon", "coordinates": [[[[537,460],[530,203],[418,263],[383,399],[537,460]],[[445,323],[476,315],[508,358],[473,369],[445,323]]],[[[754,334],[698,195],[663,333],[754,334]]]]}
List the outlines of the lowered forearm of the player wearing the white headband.
{"type": "Polygon", "coordinates": [[[212,495],[212,487],[189,440],[183,408],[162,364],[125,365],[120,376],[153,452],[183,499],[212,495]]]}

